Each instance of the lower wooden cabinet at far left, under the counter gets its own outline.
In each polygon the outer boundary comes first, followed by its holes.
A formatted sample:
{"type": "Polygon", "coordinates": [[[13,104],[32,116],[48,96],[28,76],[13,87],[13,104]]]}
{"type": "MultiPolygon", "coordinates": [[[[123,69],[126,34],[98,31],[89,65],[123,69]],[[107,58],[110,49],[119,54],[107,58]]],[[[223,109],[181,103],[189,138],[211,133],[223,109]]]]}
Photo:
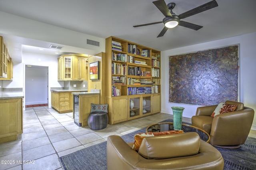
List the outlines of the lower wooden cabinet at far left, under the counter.
{"type": "Polygon", "coordinates": [[[15,141],[22,133],[22,98],[0,100],[0,143],[15,141]]]}

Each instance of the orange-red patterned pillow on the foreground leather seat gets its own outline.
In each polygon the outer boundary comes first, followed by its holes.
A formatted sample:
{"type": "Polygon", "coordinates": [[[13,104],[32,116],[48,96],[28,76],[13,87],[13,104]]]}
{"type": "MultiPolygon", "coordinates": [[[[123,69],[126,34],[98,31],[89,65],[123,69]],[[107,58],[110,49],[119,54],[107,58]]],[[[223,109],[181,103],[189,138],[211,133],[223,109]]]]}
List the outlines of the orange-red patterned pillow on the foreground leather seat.
{"type": "Polygon", "coordinates": [[[140,144],[145,137],[152,136],[160,136],[160,135],[174,135],[178,133],[183,133],[183,130],[172,130],[172,131],[164,131],[164,132],[148,132],[148,133],[138,133],[134,135],[134,144],[132,149],[138,151],[140,148],[140,144]]]}

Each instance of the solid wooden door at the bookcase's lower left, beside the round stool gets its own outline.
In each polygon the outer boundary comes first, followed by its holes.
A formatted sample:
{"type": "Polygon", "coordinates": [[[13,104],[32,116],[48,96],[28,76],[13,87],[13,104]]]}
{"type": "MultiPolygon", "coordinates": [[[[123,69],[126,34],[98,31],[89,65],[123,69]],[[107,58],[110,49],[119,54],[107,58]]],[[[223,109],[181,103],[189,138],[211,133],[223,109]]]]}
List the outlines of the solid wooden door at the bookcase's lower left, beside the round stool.
{"type": "Polygon", "coordinates": [[[112,98],[112,123],[118,123],[128,120],[128,98],[112,98]]]}

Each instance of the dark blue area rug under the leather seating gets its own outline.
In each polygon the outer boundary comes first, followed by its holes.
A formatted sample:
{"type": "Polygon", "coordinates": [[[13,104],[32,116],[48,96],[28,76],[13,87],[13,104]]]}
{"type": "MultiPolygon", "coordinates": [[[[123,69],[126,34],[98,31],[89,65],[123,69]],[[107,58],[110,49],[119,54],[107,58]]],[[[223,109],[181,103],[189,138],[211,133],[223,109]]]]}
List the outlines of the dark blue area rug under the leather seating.
{"type": "MultiPolygon", "coordinates": [[[[167,119],[164,122],[172,122],[167,119]]],[[[134,135],[146,132],[146,128],[122,136],[126,143],[134,142],[134,135]]],[[[107,170],[107,142],[60,157],[65,170],[107,170]]],[[[224,158],[224,170],[256,170],[256,139],[248,137],[238,149],[218,149],[224,158]]]]}

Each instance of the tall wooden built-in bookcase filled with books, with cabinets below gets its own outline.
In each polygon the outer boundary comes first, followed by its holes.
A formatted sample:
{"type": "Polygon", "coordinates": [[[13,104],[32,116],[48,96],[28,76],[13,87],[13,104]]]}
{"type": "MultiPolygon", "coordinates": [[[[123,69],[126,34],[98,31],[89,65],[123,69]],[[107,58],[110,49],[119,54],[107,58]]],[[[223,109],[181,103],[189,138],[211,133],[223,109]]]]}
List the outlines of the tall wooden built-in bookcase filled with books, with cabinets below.
{"type": "Polygon", "coordinates": [[[161,111],[160,59],[155,49],[116,37],[106,39],[109,124],[161,111]]]}

